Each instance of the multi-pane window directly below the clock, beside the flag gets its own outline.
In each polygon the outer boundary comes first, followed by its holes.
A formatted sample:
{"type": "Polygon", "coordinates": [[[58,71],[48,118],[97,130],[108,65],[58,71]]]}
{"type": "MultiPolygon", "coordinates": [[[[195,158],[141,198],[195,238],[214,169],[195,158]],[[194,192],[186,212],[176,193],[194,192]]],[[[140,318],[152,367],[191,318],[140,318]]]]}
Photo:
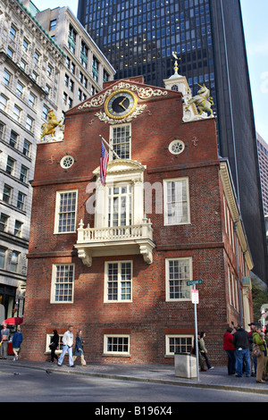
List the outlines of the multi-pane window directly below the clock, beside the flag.
{"type": "Polygon", "coordinates": [[[130,159],[130,124],[112,127],[111,130],[114,152],[121,159],[130,159]]]}

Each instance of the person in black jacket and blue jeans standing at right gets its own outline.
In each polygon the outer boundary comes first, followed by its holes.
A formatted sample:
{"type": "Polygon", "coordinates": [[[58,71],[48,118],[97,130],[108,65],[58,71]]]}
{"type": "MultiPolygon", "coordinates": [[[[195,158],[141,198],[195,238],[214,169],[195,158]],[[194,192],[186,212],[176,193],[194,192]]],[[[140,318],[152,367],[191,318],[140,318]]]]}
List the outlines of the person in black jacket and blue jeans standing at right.
{"type": "Polygon", "coordinates": [[[233,334],[232,344],[236,349],[236,376],[241,378],[243,376],[243,363],[245,362],[246,376],[250,376],[250,355],[249,355],[249,335],[244,330],[241,323],[236,327],[236,332],[233,334]]]}

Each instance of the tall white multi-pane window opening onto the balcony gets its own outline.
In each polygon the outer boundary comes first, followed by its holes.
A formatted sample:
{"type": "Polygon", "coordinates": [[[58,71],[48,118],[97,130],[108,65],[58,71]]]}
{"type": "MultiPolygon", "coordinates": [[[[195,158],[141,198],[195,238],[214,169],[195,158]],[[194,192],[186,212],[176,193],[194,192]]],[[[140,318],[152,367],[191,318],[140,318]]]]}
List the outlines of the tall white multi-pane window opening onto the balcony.
{"type": "Polygon", "coordinates": [[[132,224],[132,187],[130,184],[109,187],[108,226],[132,224]]]}

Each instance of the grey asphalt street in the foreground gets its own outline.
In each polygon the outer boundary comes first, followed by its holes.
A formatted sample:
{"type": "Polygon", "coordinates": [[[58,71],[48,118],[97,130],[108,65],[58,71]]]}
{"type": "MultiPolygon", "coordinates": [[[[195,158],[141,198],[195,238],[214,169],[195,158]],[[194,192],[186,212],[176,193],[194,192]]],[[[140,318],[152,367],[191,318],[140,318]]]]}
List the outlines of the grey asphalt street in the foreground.
{"type": "MultiPolygon", "coordinates": [[[[103,403],[95,407],[108,407],[108,403],[118,402],[123,409],[124,403],[157,403],[163,416],[179,413],[176,404],[181,402],[266,402],[267,395],[238,391],[199,389],[179,385],[157,384],[135,381],[121,381],[106,378],[86,377],[79,374],[62,374],[49,370],[30,369],[18,364],[0,366],[0,392],[4,402],[92,402],[103,403]],[[165,408],[164,408],[165,407],[165,408]],[[167,412],[168,407],[171,412],[167,412]]],[[[91,414],[105,415],[94,411],[91,414]]],[[[110,406],[112,407],[112,406],[110,406]]],[[[134,405],[130,405],[134,407],[134,405]]],[[[142,407],[142,406],[140,406],[142,407]]],[[[155,405],[153,405],[155,407],[155,405]]],[[[105,408],[103,408],[105,409],[105,408]]],[[[129,408],[130,410],[132,408],[129,408]]],[[[133,408],[134,409],[134,408],[133,408]]],[[[141,416],[145,413],[138,412],[141,416]]],[[[129,411],[115,413],[120,417],[129,411]]],[[[106,413],[111,414],[111,413],[106,413]]],[[[132,412],[133,414],[133,412],[132,412]]],[[[148,413],[147,413],[148,414],[148,413]]],[[[113,413],[114,415],[114,413],[113,413]]]]}

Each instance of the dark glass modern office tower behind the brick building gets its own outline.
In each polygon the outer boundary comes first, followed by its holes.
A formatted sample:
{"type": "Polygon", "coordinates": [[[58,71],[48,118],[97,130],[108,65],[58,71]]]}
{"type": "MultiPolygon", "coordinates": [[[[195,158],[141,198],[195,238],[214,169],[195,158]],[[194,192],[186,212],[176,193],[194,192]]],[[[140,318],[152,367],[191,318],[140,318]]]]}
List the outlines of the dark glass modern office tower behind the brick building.
{"type": "Polygon", "coordinates": [[[195,95],[205,83],[217,115],[219,155],[228,158],[252,251],[264,281],[264,211],[239,0],[79,0],[78,19],[113,64],[116,78],[144,75],[163,86],[179,73],[195,95]]]}

